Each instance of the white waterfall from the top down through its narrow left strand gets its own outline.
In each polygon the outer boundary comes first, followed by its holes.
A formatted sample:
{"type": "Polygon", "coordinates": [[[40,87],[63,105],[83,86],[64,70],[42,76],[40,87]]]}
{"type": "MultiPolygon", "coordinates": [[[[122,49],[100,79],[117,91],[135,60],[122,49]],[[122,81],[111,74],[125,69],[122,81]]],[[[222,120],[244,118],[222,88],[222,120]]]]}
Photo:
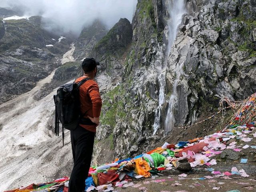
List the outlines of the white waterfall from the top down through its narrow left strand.
{"type": "Polygon", "coordinates": [[[158,82],[160,84],[159,96],[158,96],[158,107],[155,112],[155,120],[154,120],[154,133],[160,127],[160,118],[161,118],[161,108],[164,103],[164,87],[165,87],[165,73],[167,60],[170,55],[170,50],[176,39],[177,30],[182,20],[182,15],[186,13],[185,9],[185,0],[168,0],[167,1],[168,13],[170,15],[170,19],[167,22],[168,25],[168,42],[164,54],[164,63],[162,65],[162,70],[158,76],[158,82]]]}

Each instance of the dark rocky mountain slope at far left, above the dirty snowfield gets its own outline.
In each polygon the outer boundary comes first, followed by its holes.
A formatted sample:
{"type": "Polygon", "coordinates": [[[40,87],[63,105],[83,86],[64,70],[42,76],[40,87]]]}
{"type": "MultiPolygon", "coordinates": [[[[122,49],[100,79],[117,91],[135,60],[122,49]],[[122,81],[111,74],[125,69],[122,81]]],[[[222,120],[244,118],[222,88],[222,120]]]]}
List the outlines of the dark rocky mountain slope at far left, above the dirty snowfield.
{"type": "Polygon", "coordinates": [[[39,16],[0,20],[0,103],[31,90],[38,80],[60,66],[68,39],[41,28],[39,16]]]}

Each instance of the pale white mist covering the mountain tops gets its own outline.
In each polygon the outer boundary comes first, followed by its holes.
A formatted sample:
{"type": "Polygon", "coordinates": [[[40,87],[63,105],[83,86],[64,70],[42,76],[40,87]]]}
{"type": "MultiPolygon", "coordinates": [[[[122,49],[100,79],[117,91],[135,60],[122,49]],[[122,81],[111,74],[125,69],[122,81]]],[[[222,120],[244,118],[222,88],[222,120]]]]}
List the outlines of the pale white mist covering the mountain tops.
{"type": "Polygon", "coordinates": [[[120,18],[132,21],[137,0],[1,0],[24,16],[42,16],[44,28],[79,35],[82,28],[100,19],[108,28],[120,18]]]}

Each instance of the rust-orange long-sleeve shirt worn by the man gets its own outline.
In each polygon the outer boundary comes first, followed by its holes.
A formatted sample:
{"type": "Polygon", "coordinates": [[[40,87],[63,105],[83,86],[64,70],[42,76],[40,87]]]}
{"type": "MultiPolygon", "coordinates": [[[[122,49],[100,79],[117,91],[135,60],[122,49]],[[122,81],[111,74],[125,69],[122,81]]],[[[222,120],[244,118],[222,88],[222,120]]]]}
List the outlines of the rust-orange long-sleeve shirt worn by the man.
{"type": "MultiPolygon", "coordinates": [[[[86,78],[86,76],[79,77],[76,79],[75,82],[80,82],[84,78],[86,78]]],[[[84,84],[80,86],[79,93],[81,112],[82,114],[84,114],[86,111],[88,111],[86,112],[84,117],[99,117],[102,107],[102,100],[100,97],[100,90],[98,84],[94,80],[87,80],[84,84]]],[[[88,131],[96,132],[96,125],[79,125],[88,131]]]]}

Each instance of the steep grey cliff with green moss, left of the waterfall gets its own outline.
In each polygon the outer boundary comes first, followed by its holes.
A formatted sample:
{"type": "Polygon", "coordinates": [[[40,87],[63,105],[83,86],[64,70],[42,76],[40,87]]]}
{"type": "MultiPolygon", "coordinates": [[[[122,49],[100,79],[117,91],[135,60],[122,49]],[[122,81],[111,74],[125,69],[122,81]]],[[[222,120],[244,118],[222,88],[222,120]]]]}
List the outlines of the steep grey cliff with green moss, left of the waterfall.
{"type": "MultiPolygon", "coordinates": [[[[159,6],[159,5],[158,5],[159,6]]],[[[132,43],[123,64],[122,81],[104,94],[102,120],[97,130],[94,162],[102,162],[110,152],[111,157],[134,154],[138,145],[152,133],[156,68],[162,64],[162,40],[160,22],[156,25],[154,4],[151,0],[139,1],[132,22],[132,43]],[[152,89],[152,90],[150,90],[152,89]]],[[[111,30],[110,30],[111,31],[111,30]]],[[[119,50],[119,49],[117,49],[119,50]]],[[[106,65],[106,68],[108,66],[106,65]]],[[[112,74],[116,69],[112,69],[112,74]]]]}

